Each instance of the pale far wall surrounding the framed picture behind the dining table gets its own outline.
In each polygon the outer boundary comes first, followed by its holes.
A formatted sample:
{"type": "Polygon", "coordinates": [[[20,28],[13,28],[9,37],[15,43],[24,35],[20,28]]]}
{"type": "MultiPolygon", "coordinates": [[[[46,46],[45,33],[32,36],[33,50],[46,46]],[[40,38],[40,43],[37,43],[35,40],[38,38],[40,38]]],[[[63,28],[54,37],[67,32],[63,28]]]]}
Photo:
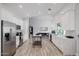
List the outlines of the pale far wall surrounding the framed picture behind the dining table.
{"type": "Polygon", "coordinates": [[[52,16],[37,16],[30,18],[30,25],[33,26],[34,35],[40,32],[40,27],[48,27],[47,32],[51,32],[52,20],[54,21],[52,16]]]}

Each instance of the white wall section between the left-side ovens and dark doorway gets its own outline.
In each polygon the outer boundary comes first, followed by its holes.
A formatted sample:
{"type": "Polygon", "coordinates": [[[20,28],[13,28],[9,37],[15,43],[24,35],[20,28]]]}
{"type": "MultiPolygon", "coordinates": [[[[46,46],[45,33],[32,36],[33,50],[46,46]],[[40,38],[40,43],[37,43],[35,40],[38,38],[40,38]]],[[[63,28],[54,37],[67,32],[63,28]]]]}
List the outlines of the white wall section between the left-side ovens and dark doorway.
{"type": "Polygon", "coordinates": [[[23,40],[26,41],[29,39],[29,18],[23,19],[23,40]]]}

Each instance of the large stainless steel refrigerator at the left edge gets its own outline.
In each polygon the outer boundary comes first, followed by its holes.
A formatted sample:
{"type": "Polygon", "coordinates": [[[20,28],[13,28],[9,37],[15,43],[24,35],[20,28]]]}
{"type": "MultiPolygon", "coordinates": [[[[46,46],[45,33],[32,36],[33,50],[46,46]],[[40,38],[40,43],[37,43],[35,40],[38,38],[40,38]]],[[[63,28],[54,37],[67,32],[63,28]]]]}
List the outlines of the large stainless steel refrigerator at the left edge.
{"type": "Polygon", "coordinates": [[[1,55],[12,56],[16,53],[16,24],[1,21],[1,55]]]}

